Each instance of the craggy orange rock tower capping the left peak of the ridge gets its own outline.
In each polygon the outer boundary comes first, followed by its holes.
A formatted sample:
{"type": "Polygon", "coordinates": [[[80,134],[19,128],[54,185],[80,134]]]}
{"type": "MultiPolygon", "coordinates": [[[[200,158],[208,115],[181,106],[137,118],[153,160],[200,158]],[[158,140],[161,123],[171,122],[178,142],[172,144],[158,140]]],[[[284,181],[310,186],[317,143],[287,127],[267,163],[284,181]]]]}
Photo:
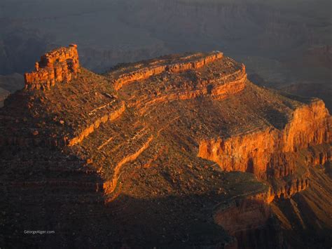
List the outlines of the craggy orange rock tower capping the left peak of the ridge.
{"type": "Polygon", "coordinates": [[[36,62],[34,72],[25,74],[25,88],[49,89],[55,83],[71,81],[76,78],[79,67],[76,44],[50,51],[36,62]]]}

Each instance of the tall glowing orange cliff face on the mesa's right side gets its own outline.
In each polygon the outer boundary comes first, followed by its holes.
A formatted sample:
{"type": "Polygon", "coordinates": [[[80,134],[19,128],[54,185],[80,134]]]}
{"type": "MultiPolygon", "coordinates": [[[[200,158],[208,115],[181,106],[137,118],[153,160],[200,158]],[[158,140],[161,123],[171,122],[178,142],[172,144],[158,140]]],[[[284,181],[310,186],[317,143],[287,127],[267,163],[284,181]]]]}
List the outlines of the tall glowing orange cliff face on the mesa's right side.
{"type": "Polygon", "coordinates": [[[282,130],[267,128],[202,140],[198,156],[226,171],[250,172],[263,179],[284,177],[294,172],[300,149],[331,142],[329,121],[324,102],[314,100],[296,109],[282,130]]]}

